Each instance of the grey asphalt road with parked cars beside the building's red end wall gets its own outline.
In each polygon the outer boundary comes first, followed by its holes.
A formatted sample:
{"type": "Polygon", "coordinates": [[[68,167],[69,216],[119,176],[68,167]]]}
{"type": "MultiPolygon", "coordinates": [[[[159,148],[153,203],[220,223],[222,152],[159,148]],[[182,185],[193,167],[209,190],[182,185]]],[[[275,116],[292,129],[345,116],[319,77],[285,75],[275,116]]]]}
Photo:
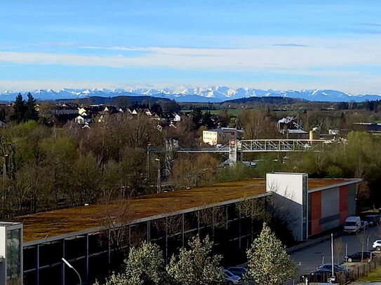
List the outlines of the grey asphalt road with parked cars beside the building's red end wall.
{"type": "MultiPolygon", "coordinates": [[[[372,251],[372,244],[375,239],[381,238],[381,225],[377,225],[373,228],[369,228],[364,231],[366,236],[369,237],[369,246],[368,250],[372,251]]],[[[342,253],[342,258],[340,258],[340,262],[345,261],[345,244],[347,244],[348,254],[355,253],[357,251],[361,251],[361,245],[359,243],[359,235],[342,235],[340,237],[336,237],[335,239],[340,239],[344,244],[344,250],[342,253]]],[[[366,251],[366,245],[364,251],[366,251]]],[[[296,263],[300,262],[298,266],[299,274],[305,274],[309,272],[313,272],[316,270],[316,267],[319,267],[322,262],[330,263],[330,240],[326,242],[320,242],[314,246],[308,247],[307,249],[301,249],[300,251],[295,251],[290,254],[291,258],[295,260],[296,263]]],[[[334,261],[337,263],[336,256],[334,256],[334,261]]]]}

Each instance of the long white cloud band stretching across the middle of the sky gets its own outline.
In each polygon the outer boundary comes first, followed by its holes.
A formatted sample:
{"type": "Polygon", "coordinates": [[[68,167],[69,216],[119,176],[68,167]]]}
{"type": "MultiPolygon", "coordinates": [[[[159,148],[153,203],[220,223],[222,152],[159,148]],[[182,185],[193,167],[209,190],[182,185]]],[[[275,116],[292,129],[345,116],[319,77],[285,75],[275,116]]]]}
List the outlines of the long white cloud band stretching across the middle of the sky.
{"type": "MultiPolygon", "coordinates": [[[[278,39],[279,40],[279,39],[278,39]]],[[[0,62],[17,64],[63,64],[100,67],[171,67],[218,71],[301,70],[310,67],[348,67],[381,65],[381,39],[324,40],[307,46],[307,40],[293,41],[295,46],[259,48],[135,48],[82,46],[83,49],[147,51],[136,57],[124,55],[73,55],[1,51],[0,62]],[[333,48],[326,48],[333,46],[333,48]]],[[[310,39],[310,41],[313,41],[310,39]]],[[[279,41],[278,41],[279,42],[279,41]]],[[[288,41],[289,43],[290,41],[288,41]]]]}

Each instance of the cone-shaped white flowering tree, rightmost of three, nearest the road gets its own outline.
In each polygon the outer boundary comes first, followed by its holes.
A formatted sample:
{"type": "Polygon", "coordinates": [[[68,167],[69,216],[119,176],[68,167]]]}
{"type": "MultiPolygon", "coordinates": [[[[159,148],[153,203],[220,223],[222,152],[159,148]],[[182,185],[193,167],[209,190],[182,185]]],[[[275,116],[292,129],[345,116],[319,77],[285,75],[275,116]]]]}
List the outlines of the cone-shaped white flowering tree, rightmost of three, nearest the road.
{"type": "Polygon", "coordinates": [[[247,281],[255,284],[281,285],[292,279],[296,274],[296,267],[279,239],[276,238],[266,223],[263,223],[262,232],[247,251],[248,272],[247,281]]]}

